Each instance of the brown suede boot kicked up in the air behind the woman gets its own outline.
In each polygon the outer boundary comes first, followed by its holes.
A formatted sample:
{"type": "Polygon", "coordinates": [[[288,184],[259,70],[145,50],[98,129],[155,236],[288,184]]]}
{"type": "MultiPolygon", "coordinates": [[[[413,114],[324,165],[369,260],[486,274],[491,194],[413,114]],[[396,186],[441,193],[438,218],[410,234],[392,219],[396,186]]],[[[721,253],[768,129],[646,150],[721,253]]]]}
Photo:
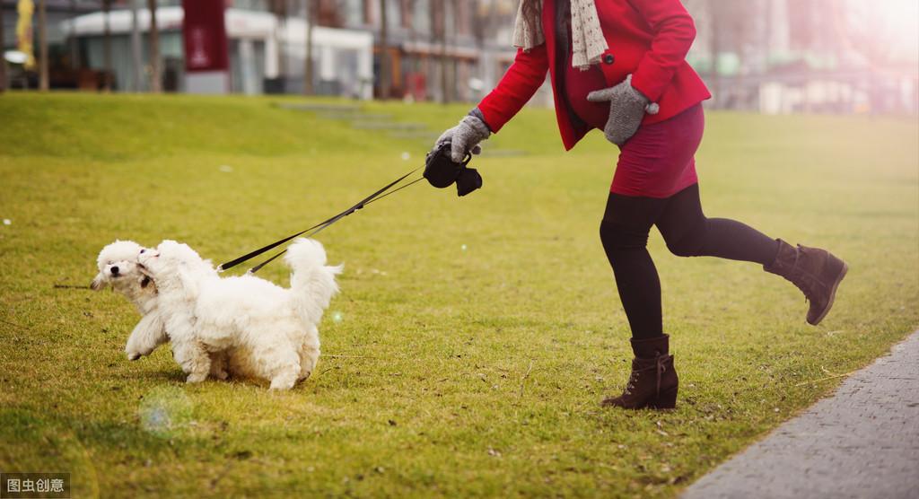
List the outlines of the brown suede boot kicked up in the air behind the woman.
{"type": "Polygon", "coordinates": [[[781,239],[777,241],[776,261],[763,266],[763,270],[789,279],[804,292],[804,298],[811,302],[807,322],[817,325],[833,308],[836,288],[849,267],[826,250],[800,244],[796,248],[781,239]]]}

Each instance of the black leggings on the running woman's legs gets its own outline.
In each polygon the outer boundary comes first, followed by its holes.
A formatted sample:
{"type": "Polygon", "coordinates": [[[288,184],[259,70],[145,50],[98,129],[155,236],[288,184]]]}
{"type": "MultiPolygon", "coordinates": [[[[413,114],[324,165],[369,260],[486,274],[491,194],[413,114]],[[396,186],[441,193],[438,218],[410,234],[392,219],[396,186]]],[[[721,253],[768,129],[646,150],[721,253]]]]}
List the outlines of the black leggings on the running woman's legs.
{"type": "Polygon", "coordinates": [[[635,338],[664,334],[661,280],[646,248],[652,225],[657,225],[667,248],[678,256],[718,256],[768,265],[778,252],[777,241],[748,225],[706,218],[698,184],[663,199],[610,193],[600,239],[635,338]]]}

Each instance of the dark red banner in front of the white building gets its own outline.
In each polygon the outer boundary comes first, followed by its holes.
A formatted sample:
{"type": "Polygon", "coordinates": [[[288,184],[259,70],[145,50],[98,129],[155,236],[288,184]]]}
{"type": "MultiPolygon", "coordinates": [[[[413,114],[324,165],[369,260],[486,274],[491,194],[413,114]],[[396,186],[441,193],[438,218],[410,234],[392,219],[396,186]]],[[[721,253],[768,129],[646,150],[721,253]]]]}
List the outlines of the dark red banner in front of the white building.
{"type": "Polygon", "coordinates": [[[226,0],[182,0],[185,19],[185,70],[226,71],[229,69],[227,30],[223,22],[226,0]]]}

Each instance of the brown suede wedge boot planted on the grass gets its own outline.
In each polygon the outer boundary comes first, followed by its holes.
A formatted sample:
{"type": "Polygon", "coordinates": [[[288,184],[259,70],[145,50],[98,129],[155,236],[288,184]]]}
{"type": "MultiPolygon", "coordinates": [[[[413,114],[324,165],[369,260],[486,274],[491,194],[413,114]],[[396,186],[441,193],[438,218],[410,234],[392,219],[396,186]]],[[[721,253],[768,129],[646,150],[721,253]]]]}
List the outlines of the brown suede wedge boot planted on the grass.
{"type": "Polygon", "coordinates": [[[632,372],[625,391],[618,397],[607,397],[601,405],[623,409],[673,409],[679,379],[674,370],[674,356],[667,355],[670,336],[632,339],[632,372]]]}

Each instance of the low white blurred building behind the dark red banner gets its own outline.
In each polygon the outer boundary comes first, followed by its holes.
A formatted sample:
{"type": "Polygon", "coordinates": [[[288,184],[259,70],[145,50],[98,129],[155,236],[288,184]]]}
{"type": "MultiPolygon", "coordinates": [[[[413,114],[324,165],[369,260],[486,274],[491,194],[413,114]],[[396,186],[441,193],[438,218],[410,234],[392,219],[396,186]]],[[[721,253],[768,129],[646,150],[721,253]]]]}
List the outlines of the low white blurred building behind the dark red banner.
{"type": "MultiPolygon", "coordinates": [[[[157,8],[165,91],[186,90],[183,16],[181,6],[157,8]]],[[[228,8],[224,17],[229,41],[232,92],[246,95],[268,91],[301,92],[306,46],[306,27],[302,19],[281,20],[269,12],[241,8],[228,8]]],[[[103,33],[107,22],[113,53],[111,71],[115,76],[115,88],[144,89],[145,83],[136,81],[132,70],[134,61],[131,56],[130,33],[134,21],[130,9],[115,9],[108,16],[102,12],[94,12],[64,21],[62,25],[66,31],[74,33],[85,65],[103,69],[103,33]]],[[[148,10],[138,9],[137,25],[142,35],[142,63],[146,65],[146,43],[150,28],[148,10]]],[[[313,30],[312,36],[317,56],[314,62],[317,67],[315,74],[319,93],[358,98],[372,97],[372,35],[366,30],[317,27],[313,30]]]]}

